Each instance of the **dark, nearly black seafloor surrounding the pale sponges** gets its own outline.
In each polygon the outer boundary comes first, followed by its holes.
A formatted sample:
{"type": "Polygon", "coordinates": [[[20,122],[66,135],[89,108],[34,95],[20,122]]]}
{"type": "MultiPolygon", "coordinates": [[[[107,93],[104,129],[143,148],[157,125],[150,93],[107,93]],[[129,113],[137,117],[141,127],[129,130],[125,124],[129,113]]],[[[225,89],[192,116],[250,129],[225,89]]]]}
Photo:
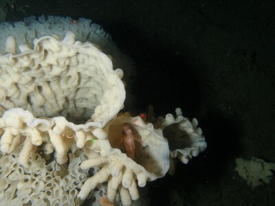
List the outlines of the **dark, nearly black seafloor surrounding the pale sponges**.
{"type": "Polygon", "coordinates": [[[137,67],[128,108],[199,119],[206,152],[148,183],[151,205],[275,205],[275,179],[234,172],[236,157],[275,163],[275,1],[0,1],[0,21],[32,15],[102,25],[137,67]]]}

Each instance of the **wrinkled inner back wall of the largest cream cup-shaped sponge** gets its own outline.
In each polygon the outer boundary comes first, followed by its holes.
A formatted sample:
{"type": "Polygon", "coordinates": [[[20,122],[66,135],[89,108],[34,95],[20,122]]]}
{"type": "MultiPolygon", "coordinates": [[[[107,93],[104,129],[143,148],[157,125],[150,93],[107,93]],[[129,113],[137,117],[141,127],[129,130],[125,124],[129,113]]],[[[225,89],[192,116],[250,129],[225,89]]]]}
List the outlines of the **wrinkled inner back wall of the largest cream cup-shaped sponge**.
{"type": "Polygon", "coordinates": [[[113,71],[107,55],[91,43],[76,41],[74,33],[62,41],[53,36],[35,39],[34,49],[21,54],[13,53],[17,43],[12,36],[6,44],[7,54],[0,56],[0,115],[20,107],[34,117],[89,119],[94,122],[89,126],[102,127],[123,107],[121,69],[113,71]]]}

